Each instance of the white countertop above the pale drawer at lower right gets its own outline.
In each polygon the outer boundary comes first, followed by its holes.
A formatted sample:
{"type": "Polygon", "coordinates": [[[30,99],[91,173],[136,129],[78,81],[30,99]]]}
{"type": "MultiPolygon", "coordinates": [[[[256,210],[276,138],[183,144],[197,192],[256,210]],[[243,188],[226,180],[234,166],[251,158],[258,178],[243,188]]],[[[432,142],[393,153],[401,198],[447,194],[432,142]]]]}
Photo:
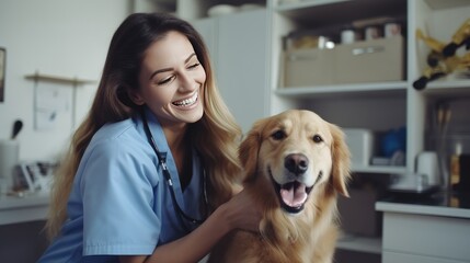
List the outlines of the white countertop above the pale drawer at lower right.
{"type": "Polygon", "coordinates": [[[429,197],[387,198],[376,203],[376,210],[419,214],[429,216],[459,217],[470,219],[470,195],[437,193],[429,197]]]}

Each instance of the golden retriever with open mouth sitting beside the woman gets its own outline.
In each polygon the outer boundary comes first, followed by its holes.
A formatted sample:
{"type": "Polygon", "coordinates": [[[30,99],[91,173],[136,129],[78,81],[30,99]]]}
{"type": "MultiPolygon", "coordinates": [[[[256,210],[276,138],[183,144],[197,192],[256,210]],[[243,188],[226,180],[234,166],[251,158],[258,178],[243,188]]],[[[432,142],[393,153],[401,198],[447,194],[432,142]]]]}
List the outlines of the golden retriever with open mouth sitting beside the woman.
{"type": "Polygon", "coordinates": [[[347,196],[349,151],[342,130],[311,111],[257,121],[240,145],[244,187],[263,209],[261,235],[233,231],[209,262],[332,262],[336,196],[347,196]]]}

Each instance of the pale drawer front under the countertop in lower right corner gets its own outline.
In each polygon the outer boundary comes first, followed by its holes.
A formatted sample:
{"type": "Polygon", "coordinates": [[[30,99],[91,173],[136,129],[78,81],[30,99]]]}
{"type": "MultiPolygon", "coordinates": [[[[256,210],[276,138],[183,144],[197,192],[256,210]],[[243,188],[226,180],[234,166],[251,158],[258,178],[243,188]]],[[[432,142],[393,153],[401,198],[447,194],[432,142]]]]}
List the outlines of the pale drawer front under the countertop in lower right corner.
{"type": "Polygon", "coordinates": [[[468,262],[469,237],[470,219],[383,214],[383,251],[468,262]]]}

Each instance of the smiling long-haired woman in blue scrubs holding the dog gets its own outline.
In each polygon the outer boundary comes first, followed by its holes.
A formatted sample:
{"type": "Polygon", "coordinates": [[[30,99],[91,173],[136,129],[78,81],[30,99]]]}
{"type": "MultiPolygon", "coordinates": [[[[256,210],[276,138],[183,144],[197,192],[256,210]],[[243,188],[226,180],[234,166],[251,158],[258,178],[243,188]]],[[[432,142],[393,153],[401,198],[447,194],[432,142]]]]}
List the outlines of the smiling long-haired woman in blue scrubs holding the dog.
{"type": "Polygon", "coordinates": [[[194,27],[129,15],[56,175],[38,262],[197,262],[231,230],[257,231],[240,137],[194,27]]]}

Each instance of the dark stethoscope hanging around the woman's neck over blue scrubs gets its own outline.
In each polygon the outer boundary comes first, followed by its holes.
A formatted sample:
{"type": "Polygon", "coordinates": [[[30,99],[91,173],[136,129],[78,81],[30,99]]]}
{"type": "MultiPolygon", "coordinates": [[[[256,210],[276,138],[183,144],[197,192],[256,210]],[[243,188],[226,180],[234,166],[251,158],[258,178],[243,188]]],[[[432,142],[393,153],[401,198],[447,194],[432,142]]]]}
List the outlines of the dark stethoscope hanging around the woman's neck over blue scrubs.
{"type": "MultiPolygon", "coordinates": [[[[153,139],[153,136],[150,133],[149,124],[147,122],[147,116],[146,116],[146,113],[145,113],[144,110],[141,111],[140,115],[142,117],[144,129],[146,132],[147,139],[149,140],[150,146],[152,147],[153,151],[157,155],[157,158],[159,160],[159,164],[160,164],[160,167],[161,167],[161,169],[163,171],[163,176],[167,180],[167,184],[168,184],[168,186],[170,188],[170,194],[171,194],[171,198],[172,198],[172,202],[173,202],[173,207],[174,207],[174,209],[176,211],[177,218],[180,219],[183,228],[186,231],[190,231],[190,229],[187,228],[187,226],[186,226],[185,221],[183,220],[183,218],[186,219],[186,221],[191,222],[193,226],[198,226],[198,225],[200,225],[200,224],[203,224],[205,221],[204,218],[207,218],[207,215],[204,215],[203,219],[196,219],[194,217],[191,217],[186,213],[184,213],[183,208],[181,208],[180,204],[177,204],[176,194],[174,193],[174,187],[173,187],[173,180],[171,180],[171,174],[170,174],[170,171],[168,170],[168,165],[167,165],[167,152],[162,152],[162,151],[160,151],[158,149],[157,144],[156,144],[154,139],[153,139]]],[[[205,214],[207,214],[207,204],[208,203],[207,203],[207,192],[206,192],[206,172],[204,171],[204,169],[203,169],[202,173],[203,173],[204,205],[206,206],[205,207],[206,208],[205,214]]]]}

